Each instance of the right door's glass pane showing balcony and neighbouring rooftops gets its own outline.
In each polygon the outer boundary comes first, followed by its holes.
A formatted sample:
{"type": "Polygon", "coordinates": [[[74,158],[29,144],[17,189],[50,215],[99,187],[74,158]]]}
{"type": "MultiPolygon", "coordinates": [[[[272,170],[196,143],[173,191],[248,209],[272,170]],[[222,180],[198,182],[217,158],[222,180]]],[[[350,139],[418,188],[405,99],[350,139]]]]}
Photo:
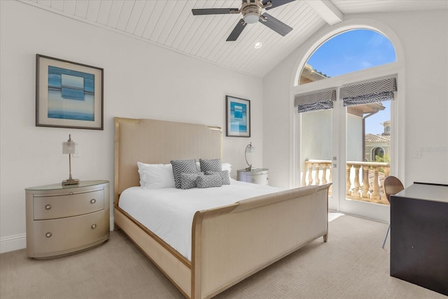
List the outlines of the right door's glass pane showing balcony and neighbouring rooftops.
{"type": "Polygon", "coordinates": [[[390,101],[347,107],[347,200],[388,204],[383,182],[391,169],[390,120],[390,101]]]}

